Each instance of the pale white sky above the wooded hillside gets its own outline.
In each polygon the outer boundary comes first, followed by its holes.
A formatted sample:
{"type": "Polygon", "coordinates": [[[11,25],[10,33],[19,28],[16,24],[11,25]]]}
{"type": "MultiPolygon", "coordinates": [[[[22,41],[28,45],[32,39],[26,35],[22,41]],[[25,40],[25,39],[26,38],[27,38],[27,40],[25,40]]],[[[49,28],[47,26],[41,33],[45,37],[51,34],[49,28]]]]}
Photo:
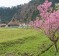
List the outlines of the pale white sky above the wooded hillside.
{"type": "Polygon", "coordinates": [[[0,0],[0,7],[12,7],[28,3],[30,0],[0,0]]]}

